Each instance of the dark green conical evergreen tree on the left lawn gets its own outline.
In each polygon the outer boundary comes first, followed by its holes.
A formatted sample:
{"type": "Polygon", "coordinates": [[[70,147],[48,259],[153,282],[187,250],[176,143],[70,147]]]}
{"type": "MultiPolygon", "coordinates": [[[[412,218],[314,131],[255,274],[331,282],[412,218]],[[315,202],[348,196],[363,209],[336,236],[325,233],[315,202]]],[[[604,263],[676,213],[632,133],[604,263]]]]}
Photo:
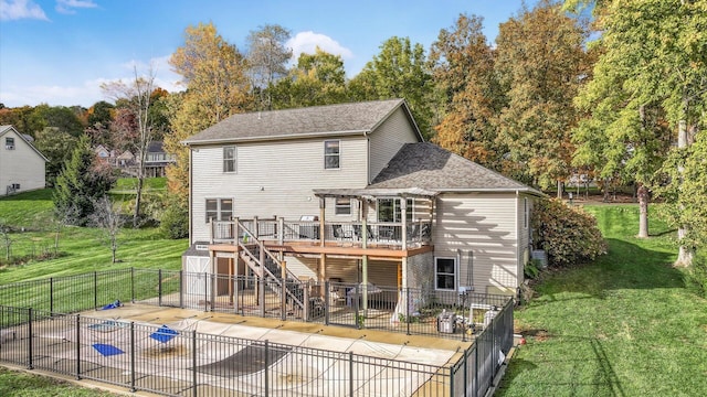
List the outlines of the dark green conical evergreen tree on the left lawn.
{"type": "Polygon", "coordinates": [[[57,217],[71,225],[85,226],[94,201],[104,196],[114,182],[110,170],[96,160],[88,138],[82,137],[56,178],[53,201],[57,217]]]}

